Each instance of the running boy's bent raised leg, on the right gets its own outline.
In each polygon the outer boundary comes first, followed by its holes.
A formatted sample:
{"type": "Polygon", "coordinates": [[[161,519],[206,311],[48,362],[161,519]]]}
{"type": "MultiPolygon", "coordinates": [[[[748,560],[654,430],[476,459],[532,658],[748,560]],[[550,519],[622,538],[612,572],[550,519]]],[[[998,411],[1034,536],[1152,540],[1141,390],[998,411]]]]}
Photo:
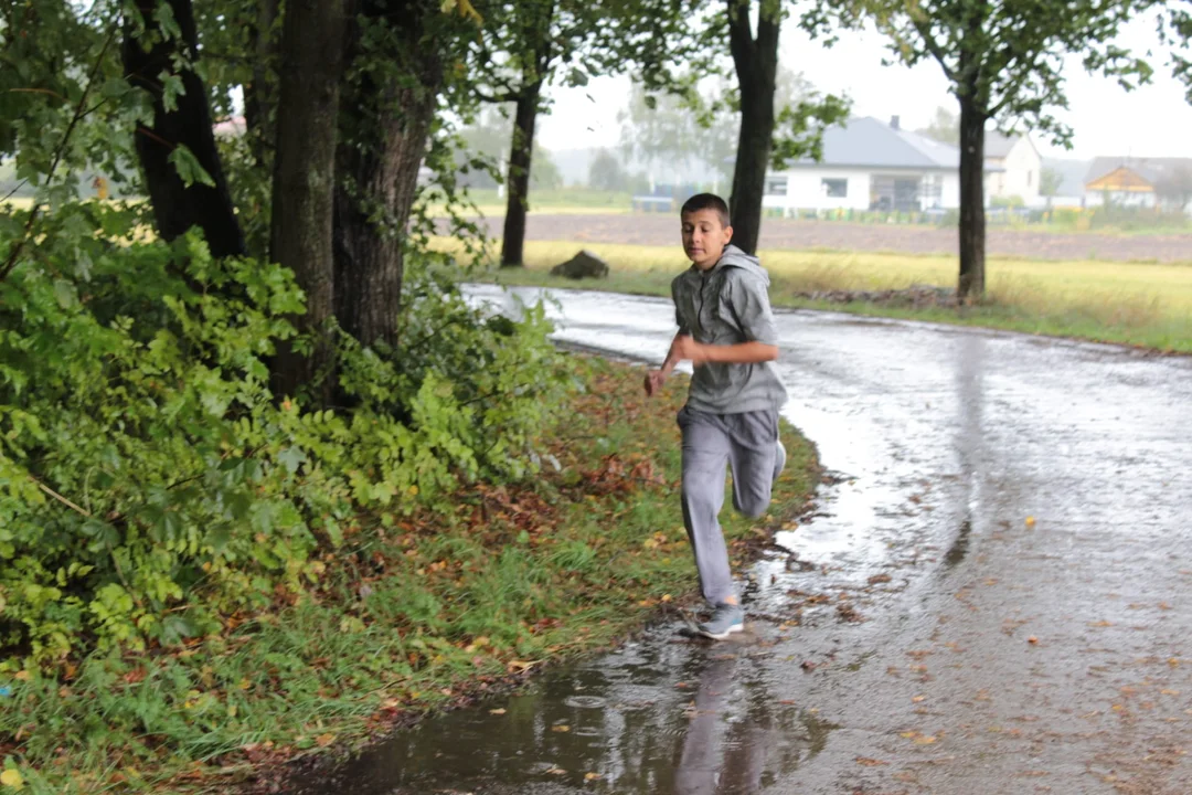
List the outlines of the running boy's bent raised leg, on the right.
{"type": "Polygon", "coordinates": [[[780,453],[778,412],[771,409],[725,415],[725,426],[731,441],[733,507],[756,518],[770,507],[774,482],[786,466],[787,452],[780,453]]]}

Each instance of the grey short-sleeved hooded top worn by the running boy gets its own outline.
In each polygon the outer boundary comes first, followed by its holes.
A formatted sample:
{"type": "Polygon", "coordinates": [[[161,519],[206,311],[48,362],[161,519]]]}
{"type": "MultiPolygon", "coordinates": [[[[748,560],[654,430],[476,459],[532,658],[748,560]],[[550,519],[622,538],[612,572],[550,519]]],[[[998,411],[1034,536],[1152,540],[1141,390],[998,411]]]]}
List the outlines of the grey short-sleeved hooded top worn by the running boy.
{"type": "MultiPolygon", "coordinates": [[[[693,265],[671,282],[679,334],[707,344],[778,344],[769,287],[770,275],[756,256],[726,247],[709,271],[693,265]]],[[[776,410],[786,402],[787,390],[771,361],[696,367],[687,398],[688,406],[709,414],[776,410]]]]}

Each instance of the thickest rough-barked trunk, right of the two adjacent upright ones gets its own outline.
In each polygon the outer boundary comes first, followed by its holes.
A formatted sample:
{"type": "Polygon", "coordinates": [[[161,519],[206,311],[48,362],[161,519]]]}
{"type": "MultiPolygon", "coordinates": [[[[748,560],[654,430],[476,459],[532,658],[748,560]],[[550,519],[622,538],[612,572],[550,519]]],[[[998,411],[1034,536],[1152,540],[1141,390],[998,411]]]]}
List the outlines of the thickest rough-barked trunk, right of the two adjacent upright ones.
{"type": "Polygon", "coordinates": [[[387,25],[392,52],[361,52],[361,30],[353,25],[348,57],[365,55],[373,66],[358,68],[344,87],[336,157],[335,316],[361,343],[397,348],[402,303],[402,249],[417,193],[435,97],[443,72],[429,14],[437,4],[418,0],[393,13],[384,0],[362,0],[365,25],[387,25]]]}

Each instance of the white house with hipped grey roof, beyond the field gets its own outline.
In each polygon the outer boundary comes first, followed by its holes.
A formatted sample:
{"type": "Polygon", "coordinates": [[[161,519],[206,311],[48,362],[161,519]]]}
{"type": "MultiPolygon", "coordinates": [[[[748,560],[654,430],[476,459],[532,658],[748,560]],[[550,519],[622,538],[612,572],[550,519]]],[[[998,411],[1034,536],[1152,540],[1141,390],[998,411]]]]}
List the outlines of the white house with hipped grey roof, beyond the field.
{"type": "MultiPolygon", "coordinates": [[[[986,166],[988,172],[991,166],[986,166]]],[[[960,149],[873,117],[824,132],[822,159],[805,157],[766,175],[762,206],[797,210],[960,207],[960,149]]]]}

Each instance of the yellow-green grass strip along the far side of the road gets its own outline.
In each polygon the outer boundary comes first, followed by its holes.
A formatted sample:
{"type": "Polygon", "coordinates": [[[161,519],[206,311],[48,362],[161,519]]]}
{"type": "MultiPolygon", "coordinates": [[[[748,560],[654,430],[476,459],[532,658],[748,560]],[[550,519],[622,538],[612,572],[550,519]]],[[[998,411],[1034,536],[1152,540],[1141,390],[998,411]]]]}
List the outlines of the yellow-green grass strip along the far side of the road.
{"type": "MultiPolygon", "coordinates": [[[[440,240],[449,248],[452,242],[440,240]]],[[[890,290],[911,285],[954,286],[951,256],[840,251],[762,251],[776,306],[827,309],[960,325],[1113,342],[1168,353],[1192,353],[1192,263],[1033,261],[991,259],[987,297],[976,306],[900,309],[875,303],[811,300],[832,290],[890,290]]],[[[510,285],[596,287],[611,292],[669,296],[684,267],[678,247],[528,241],[524,269],[491,272],[510,285]],[[551,277],[551,266],[586,248],[604,257],[613,275],[577,284],[551,277]]]]}

